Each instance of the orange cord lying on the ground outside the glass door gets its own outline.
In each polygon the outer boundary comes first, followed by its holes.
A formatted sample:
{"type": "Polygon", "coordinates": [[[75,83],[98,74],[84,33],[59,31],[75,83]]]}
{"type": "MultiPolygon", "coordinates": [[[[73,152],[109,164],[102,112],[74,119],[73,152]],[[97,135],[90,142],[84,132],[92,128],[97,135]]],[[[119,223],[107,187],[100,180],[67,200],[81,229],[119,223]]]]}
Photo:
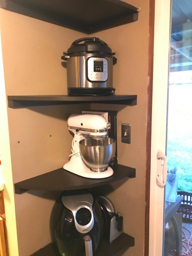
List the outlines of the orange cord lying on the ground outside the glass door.
{"type": "MultiPolygon", "coordinates": [[[[172,255],[176,255],[175,250],[169,250],[169,253],[172,255]]],[[[180,251],[180,256],[192,256],[192,233],[190,230],[182,226],[182,250],[180,251]],[[189,234],[189,238],[187,238],[186,232],[187,230],[189,234]]]]}

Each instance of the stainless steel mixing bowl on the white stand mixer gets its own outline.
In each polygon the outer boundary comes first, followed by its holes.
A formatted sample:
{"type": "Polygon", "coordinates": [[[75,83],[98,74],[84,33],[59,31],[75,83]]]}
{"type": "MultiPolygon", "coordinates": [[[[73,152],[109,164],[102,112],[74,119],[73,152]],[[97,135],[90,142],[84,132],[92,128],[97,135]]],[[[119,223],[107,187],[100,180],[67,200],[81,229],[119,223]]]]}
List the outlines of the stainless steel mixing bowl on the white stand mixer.
{"type": "Polygon", "coordinates": [[[103,172],[115,155],[116,140],[108,137],[104,140],[87,138],[80,140],[79,148],[84,162],[92,171],[103,172]]]}

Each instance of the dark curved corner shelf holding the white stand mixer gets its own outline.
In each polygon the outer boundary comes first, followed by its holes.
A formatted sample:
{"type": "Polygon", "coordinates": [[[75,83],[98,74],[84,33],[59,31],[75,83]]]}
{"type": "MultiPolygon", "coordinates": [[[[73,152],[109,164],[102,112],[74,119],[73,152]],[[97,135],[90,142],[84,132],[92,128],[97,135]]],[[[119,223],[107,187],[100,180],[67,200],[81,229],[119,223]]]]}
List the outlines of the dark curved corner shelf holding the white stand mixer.
{"type": "Polygon", "coordinates": [[[63,168],[47,172],[42,175],[23,180],[14,184],[15,194],[22,194],[28,190],[47,190],[47,191],[64,191],[82,188],[92,188],[100,185],[109,184],[117,180],[135,178],[136,170],[121,164],[113,167],[114,174],[104,179],[88,179],[72,172],[68,172],[63,168]]]}

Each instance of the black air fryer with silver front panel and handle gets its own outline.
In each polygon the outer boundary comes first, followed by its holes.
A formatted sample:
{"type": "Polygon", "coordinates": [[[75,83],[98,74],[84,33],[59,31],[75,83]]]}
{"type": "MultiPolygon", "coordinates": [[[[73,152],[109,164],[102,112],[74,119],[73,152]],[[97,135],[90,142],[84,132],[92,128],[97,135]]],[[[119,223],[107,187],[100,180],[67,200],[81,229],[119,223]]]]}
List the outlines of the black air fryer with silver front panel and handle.
{"type": "Polygon", "coordinates": [[[102,213],[87,190],[65,191],[54,204],[50,220],[58,256],[94,256],[102,239],[102,213]]]}

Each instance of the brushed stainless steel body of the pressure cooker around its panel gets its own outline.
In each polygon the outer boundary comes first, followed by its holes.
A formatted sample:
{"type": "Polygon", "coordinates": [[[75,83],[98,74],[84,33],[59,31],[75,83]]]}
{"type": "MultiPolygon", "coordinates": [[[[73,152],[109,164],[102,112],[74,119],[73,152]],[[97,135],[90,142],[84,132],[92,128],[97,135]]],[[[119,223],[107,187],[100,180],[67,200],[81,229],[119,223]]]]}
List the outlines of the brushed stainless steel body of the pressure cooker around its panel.
{"type": "MultiPolygon", "coordinates": [[[[113,87],[113,58],[103,57],[107,60],[108,77],[105,82],[93,81],[88,79],[87,74],[87,62],[90,57],[94,57],[94,54],[88,56],[70,56],[67,60],[67,84],[68,88],[111,88],[113,87]]],[[[97,55],[98,56],[98,55],[97,55]]],[[[97,57],[99,58],[99,57],[97,57]]],[[[98,72],[98,77],[100,73],[98,72]]],[[[94,79],[94,77],[93,77],[94,79]]]]}

